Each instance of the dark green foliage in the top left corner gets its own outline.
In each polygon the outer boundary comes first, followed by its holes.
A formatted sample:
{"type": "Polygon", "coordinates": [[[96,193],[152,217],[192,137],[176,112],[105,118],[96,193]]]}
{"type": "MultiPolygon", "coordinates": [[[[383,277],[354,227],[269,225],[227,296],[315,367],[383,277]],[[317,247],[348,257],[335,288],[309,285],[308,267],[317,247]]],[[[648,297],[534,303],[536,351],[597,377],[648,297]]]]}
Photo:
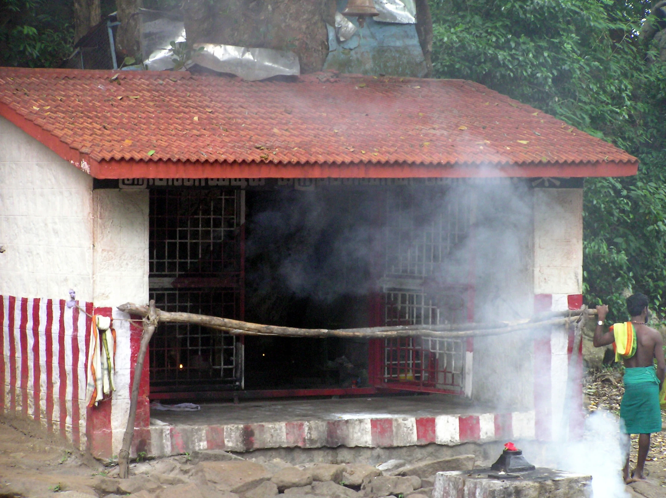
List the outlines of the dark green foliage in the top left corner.
{"type": "Polygon", "coordinates": [[[74,31],[67,5],[57,4],[47,0],[0,0],[0,65],[60,65],[72,51],[74,31]]]}

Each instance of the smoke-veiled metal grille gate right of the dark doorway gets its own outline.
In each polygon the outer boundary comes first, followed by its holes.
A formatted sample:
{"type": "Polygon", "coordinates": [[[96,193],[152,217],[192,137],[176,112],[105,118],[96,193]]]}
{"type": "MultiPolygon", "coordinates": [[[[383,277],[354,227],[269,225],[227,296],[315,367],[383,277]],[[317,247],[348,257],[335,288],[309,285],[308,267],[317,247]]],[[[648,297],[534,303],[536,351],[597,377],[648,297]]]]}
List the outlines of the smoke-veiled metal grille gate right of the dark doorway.
{"type": "MultiPolygon", "coordinates": [[[[410,195],[392,196],[386,206],[386,325],[466,322],[471,286],[442,282],[450,274],[458,282],[469,277],[469,256],[452,260],[452,249],[470,232],[470,203],[440,191],[420,192],[419,202],[410,195]]],[[[382,385],[464,393],[470,346],[468,340],[387,339],[382,385]]]]}

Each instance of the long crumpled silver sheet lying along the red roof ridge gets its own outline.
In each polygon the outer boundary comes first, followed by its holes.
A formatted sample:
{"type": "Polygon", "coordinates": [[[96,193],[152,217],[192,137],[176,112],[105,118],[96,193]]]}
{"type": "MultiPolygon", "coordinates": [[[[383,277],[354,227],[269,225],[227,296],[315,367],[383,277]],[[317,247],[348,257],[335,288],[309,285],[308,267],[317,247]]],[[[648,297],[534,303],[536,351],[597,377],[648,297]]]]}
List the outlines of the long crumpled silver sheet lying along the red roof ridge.
{"type": "Polygon", "coordinates": [[[193,49],[192,62],[248,81],[277,75],[300,75],[298,57],[293,52],[213,43],[194,43],[193,49]],[[203,50],[198,51],[199,47],[203,50]]]}

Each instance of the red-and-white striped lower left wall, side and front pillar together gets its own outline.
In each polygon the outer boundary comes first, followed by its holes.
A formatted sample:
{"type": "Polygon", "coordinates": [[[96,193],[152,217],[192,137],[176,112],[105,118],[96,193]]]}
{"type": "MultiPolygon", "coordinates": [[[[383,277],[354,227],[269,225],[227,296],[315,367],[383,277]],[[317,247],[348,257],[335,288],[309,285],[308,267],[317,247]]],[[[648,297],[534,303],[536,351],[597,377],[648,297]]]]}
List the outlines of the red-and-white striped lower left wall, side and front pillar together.
{"type": "MultiPolygon", "coordinates": [[[[139,352],[141,327],[127,321],[129,316],[113,313],[117,391],[111,399],[88,408],[91,316],[111,316],[111,308],[95,309],[90,302],[78,305],[68,308],[65,300],[0,296],[0,413],[35,419],[75,447],[110,458],[118,454],[127,424],[131,366],[139,352]]],[[[146,362],[135,451],[145,451],[149,445],[148,378],[146,362]]]]}

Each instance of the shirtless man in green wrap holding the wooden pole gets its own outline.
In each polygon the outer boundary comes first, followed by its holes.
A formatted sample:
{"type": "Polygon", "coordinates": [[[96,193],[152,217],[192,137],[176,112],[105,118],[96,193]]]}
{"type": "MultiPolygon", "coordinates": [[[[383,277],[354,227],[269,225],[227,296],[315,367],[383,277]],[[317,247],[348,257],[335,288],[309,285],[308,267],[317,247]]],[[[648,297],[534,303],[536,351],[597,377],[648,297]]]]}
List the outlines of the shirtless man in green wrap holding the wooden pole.
{"type": "MultiPolygon", "coordinates": [[[[631,315],[631,326],[636,334],[636,352],[631,358],[625,357],[625,393],[620,405],[620,418],[624,422],[625,434],[639,434],[638,463],[629,473],[629,455],[623,469],[625,483],[645,480],[643,467],[650,448],[650,434],[661,431],[661,409],[659,391],[664,381],[665,362],[661,334],[649,328],[650,312],[645,294],[633,294],[627,298],[627,310],[631,315]],[[657,360],[655,372],[654,360],[657,360]]],[[[597,306],[599,321],[594,332],[594,346],[608,346],[615,342],[613,328],[603,332],[603,322],[608,306],[597,306]]]]}

